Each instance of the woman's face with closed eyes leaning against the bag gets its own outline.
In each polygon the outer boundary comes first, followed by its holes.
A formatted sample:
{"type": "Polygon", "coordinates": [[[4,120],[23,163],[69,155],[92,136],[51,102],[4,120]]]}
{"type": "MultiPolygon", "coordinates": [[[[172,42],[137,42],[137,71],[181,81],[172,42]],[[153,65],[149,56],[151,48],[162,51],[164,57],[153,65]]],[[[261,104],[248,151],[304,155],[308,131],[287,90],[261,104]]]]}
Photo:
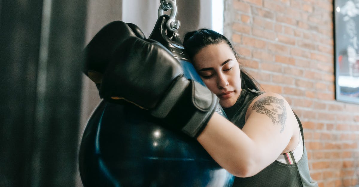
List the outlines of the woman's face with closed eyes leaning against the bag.
{"type": "Polygon", "coordinates": [[[202,48],[194,56],[193,64],[209,90],[218,96],[222,107],[236,103],[241,94],[241,71],[227,43],[202,48]]]}

